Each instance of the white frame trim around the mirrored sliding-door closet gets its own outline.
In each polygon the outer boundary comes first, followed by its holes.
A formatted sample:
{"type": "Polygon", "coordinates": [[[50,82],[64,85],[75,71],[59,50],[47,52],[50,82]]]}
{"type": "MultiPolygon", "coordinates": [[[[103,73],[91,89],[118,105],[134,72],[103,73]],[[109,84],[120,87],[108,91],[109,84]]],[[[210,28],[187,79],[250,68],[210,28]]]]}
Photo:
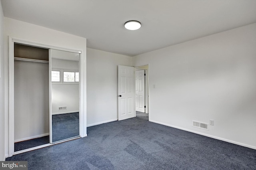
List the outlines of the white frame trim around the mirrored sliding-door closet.
{"type": "MultiPolygon", "coordinates": [[[[42,48],[47,48],[47,49],[58,49],[58,50],[69,51],[69,52],[74,52],[74,53],[80,53],[80,72],[81,73],[80,73],[80,112],[79,112],[80,128],[79,128],[79,131],[80,131],[81,137],[87,136],[86,130],[84,130],[84,129],[86,129],[86,121],[85,121],[86,120],[86,111],[84,110],[84,99],[86,96],[84,95],[84,75],[83,75],[84,69],[86,69],[86,67],[84,66],[84,63],[85,63],[84,51],[79,50],[79,49],[70,49],[67,47],[53,46],[53,45],[47,44],[47,43],[41,43],[41,42],[25,40],[22,38],[15,38],[15,37],[9,36],[9,92],[8,92],[9,93],[9,98],[8,98],[9,121],[8,121],[8,131],[7,131],[7,133],[9,134],[8,135],[9,136],[8,137],[8,156],[11,157],[14,154],[19,154],[22,152],[27,152],[30,150],[35,150],[38,148],[52,145],[49,143],[49,144],[36,146],[34,148],[21,150],[21,151],[14,153],[14,43],[21,43],[21,44],[35,46],[35,47],[42,47],[42,48]]],[[[49,67],[49,75],[50,75],[50,73],[51,73],[51,71],[50,71],[50,67],[49,67]]],[[[50,83],[49,83],[49,86],[50,86],[50,83]]],[[[49,87],[49,94],[50,94],[50,91],[51,91],[51,88],[49,87]]],[[[49,106],[49,108],[51,111],[51,105],[49,106]]],[[[49,114],[49,117],[50,117],[50,114],[49,114]]],[[[51,117],[50,117],[50,120],[52,120],[51,117]]],[[[52,123],[50,122],[50,133],[52,132],[51,125],[52,125],[52,123]]],[[[56,142],[54,144],[57,144],[57,143],[59,143],[59,142],[56,142]]]]}

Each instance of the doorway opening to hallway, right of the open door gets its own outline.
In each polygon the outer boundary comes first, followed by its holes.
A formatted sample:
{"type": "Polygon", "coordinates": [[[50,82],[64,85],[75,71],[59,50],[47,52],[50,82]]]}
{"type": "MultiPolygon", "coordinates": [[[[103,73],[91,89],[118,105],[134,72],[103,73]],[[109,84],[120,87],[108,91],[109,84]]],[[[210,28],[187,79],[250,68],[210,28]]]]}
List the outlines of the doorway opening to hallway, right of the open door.
{"type": "Polygon", "coordinates": [[[148,117],[148,65],[135,67],[136,116],[148,117]]]}

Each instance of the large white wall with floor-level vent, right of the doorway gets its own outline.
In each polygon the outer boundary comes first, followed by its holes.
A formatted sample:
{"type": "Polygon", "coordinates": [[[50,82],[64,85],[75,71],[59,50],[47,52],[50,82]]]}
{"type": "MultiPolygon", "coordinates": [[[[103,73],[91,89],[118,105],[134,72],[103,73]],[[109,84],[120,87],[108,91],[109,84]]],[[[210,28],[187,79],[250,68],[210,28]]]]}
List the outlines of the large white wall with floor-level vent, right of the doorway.
{"type": "Polygon", "coordinates": [[[251,24],[134,57],[149,64],[150,121],[256,149],[255,47],[251,24]]]}

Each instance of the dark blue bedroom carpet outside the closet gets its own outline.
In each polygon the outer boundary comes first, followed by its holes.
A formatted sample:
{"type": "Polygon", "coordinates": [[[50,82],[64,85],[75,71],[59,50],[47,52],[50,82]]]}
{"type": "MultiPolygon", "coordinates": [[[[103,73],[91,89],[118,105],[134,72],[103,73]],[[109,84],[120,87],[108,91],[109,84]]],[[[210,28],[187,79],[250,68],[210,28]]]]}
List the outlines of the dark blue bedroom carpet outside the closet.
{"type": "Polygon", "coordinates": [[[88,127],[88,136],[18,154],[30,170],[256,170],[256,150],[135,118],[88,127]]]}

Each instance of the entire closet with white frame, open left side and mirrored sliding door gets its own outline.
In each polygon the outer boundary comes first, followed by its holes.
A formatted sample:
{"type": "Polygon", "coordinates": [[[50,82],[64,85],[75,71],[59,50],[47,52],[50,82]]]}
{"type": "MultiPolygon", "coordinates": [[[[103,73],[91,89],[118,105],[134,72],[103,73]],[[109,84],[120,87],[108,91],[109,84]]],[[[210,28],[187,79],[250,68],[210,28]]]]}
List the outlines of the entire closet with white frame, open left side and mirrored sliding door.
{"type": "Polygon", "coordinates": [[[83,63],[83,50],[9,37],[9,157],[87,136],[83,63]]]}

